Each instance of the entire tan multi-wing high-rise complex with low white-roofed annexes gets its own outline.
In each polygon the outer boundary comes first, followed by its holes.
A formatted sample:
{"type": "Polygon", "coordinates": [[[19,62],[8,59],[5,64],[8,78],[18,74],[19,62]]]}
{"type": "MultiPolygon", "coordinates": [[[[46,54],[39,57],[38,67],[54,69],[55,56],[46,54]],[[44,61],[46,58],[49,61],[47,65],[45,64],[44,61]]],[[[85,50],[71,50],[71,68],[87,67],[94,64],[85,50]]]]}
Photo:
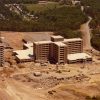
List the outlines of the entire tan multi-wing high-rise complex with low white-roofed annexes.
{"type": "Polygon", "coordinates": [[[49,41],[26,43],[24,50],[14,51],[18,62],[51,62],[58,64],[80,62],[84,59],[92,60],[91,56],[83,53],[83,40],[81,38],[64,39],[64,37],[51,36],[49,41]]]}

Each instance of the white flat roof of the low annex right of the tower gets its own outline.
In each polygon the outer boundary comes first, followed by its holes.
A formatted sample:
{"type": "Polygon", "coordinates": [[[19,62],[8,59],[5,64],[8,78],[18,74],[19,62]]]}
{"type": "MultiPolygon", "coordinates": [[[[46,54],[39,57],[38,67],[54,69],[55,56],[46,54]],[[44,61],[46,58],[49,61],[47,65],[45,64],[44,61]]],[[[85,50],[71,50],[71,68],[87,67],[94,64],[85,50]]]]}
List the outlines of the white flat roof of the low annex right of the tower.
{"type": "Polygon", "coordinates": [[[90,55],[86,53],[75,53],[75,54],[68,54],[67,59],[68,60],[78,60],[78,59],[87,59],[92,58],[90,55]]]}

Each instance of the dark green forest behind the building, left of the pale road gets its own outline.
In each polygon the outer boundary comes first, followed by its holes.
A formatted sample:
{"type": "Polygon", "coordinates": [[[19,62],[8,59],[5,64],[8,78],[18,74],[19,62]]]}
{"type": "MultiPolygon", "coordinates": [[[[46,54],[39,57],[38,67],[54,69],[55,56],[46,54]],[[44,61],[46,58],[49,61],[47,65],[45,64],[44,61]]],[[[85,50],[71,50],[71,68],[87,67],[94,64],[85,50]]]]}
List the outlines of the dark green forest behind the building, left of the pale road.
{"type": "Polygon", "coordinates": [[[3,7],[5,20],[0,20],[0,30],[4,31],[55,31],[67,38],[79,37],[77,29],[87,21],[87,17],[79,7],[60,7],[47,9],[44,12],[36,13],[33,20],[23,20],[22,16],[10,12],[3,7]]]}

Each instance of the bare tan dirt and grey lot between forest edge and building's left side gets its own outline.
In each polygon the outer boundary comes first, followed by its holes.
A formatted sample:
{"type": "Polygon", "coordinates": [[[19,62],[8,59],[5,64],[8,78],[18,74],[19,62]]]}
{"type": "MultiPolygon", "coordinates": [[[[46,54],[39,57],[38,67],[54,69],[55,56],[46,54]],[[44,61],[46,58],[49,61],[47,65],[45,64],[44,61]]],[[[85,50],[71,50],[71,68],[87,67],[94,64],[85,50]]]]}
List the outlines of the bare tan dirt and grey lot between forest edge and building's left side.
{"type": "MultiPolygon", "coordinates": [[[[4,37],[4,42],[8,43],[15,50],[22,49],[23,39],[27,40],[50,40],[50,35],[53,32],[1,32],[1,36],[4,37]]],[[[33,41],[32,41],[33,42],[33,41]]]]}

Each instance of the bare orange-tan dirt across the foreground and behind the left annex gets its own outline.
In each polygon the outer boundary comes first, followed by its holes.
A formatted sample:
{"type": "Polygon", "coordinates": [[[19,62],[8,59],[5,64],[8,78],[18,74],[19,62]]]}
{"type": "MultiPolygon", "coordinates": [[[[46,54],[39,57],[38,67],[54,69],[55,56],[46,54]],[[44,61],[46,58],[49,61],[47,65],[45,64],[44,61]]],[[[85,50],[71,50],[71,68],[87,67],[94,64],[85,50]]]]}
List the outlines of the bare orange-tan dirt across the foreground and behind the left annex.
{"type": "MultiPolygon", "coordinates": [[[[2,32],[15,50],[22,48],[25,34],[2,32]]],[[[49,63],[17,64],[11,55],[10,50],[5,51],[7,64],[0,68],[0,100],[87,100],[87,96],[100,96],[100,61],[95,55],[93,62],[59,65],[58,69],[49,63]]]]}

